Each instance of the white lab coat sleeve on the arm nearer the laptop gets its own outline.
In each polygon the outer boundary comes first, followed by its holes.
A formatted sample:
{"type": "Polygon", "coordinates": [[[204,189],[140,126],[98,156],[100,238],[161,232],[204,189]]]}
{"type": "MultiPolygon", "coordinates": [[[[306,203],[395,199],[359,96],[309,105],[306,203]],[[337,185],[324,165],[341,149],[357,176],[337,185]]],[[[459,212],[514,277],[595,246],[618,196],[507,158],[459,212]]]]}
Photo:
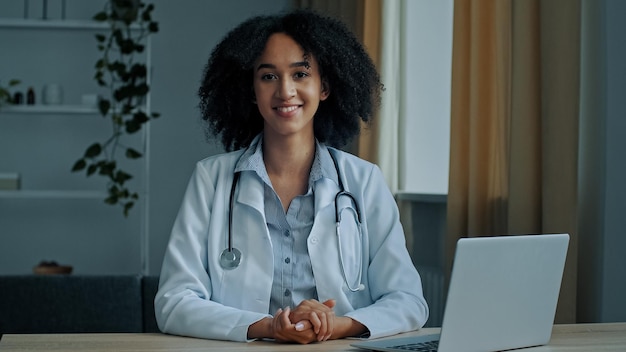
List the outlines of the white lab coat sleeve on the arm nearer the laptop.
{"type": "Polygon", "coordinates": [[[346,314],[377,338],[421,328],[428,319],[420,276],[406,249],[395,199],[376,166],[363,177],[369,243],[368,291],[373,304],[346,314]]]}

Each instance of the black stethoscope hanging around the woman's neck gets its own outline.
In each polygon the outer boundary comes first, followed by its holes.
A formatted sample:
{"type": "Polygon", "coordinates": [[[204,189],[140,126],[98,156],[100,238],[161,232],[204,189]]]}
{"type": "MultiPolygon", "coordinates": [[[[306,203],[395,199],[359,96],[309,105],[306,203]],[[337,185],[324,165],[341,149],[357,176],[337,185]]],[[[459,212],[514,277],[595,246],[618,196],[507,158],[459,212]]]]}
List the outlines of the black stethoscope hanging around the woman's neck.
{"type": "MultiPolygon", "coordinates": [[[[338,203],[340,197],[348,197],[352,204],[354,204],[354,210],[356,212],[357,218],[357,227],[359,228],[359,242],[362,243],[363,240],[363,231],[361,229],[361,210],[359,208],[359,204],[356,201],[354,195],[345,190],[343,185],[343,180],[341,177],[341,173],[339,171],[339,165],[337,164],[337,160],[335,156],[329,151],[331,159],[333,159],[333,164],[335,165],[335,170],[337,170],[337,178],[339,179],[339,192],[335,194],[335,229],[337,233],[337,250],[339,251],[339,262],[341,265],[341,274],[343,275],[343,279],[346,282],[346,286],[352,292],[362,291],[365,289],[365,285],[361,282],[362,279],[362,271],[363,271],[363,255],[362,251],[359,251],[359,274],[357,277],[358,284],[356,287],[353,287],[348,282],[348,277],[346,275],[345,265],[343,261],[343,251],[341,248],[341,213],[343,210],[347,208],[339,209],[338,203]]],[[[230,188],[230,198],[228,203],[228,247],[222,251],[220,255],[220,266],[224,270],[232,270],[239,266],[241,263],[241,251],[233,246],[233,234],[232,234],[232,225],[233,225],[233,200],[235,197],[235,190],[237,189],[237,184],[239,183],[240,172],[235,172],[233,175],[233,184],[230,188]]]]}

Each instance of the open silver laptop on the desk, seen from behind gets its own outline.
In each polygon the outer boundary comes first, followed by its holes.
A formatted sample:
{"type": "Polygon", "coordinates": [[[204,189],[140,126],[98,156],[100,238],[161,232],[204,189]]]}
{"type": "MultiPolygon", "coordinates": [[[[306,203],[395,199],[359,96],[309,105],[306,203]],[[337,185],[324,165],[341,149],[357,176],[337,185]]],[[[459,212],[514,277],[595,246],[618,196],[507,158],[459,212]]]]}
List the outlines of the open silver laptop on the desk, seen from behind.
{"type": "Polygon", "coordinates": [[[351,345],[438,352],[545,345],[552,334],[568,244],[568,234],[461,238],[440,334],[351,345]]]}

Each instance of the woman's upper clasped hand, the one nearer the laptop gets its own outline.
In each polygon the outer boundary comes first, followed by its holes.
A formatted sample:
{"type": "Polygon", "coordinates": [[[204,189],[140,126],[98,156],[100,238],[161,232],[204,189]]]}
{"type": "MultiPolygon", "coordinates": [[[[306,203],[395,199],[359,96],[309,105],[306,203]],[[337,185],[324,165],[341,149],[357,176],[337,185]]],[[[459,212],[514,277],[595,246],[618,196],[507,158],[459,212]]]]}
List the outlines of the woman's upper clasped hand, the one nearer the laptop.
{"type": "Polygon", "coordinates": [[[317,341],[326,341],[335,327],[334,306],[335,300],[332,299],[324,303],[314,299],[304,300],[289,312],[289,320],[295,322],[297,331],[312,330],[317,341]]]}

